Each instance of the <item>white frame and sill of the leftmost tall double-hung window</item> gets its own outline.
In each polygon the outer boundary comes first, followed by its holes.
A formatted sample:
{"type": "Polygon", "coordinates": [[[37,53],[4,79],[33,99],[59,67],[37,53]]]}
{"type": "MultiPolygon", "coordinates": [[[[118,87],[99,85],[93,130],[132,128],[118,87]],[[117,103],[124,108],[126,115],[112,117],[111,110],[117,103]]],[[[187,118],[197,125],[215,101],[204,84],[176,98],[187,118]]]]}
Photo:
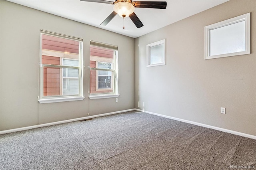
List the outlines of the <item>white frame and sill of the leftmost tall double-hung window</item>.
{"type": "MultiPolygon", "coordinates": [[[[39,103],[55,103],[55,102],[64,102],[64,101],[79,101],[83,100],[83,58],[82,58],[82,50],[83,49],[83,40],[82,38],[76,38],[72,36],[67,36],[64,34],[58,34],[54,32],[49,32],[46,30],[41,30],[40,34],[40,92],[38,96],[38,101],[39,103]],[[73,66],[65,66],[65,65],[51,65],[51,64],[42,64],[42,35],[49,35],[49,36],[55,36],[58,38],[65,38],[69,40],[75,40],[80,43],[79,47],[79,66],[78,67],[73,67],[73,66]],[[53,68],[74,68],[78,69],[79,73],[79,94],[78,95],[57,95],[57,96],[44,96],[44,67],[53,67],[53,68]]],[[[64,55],[64,54],[63,54],[64,55]]],[[[62,71],[61,71],[62,72],[62,71]]],[[[62,78],[62,73],[60,73],[62,78]]],[[[62,87],[60,87],[62,88],[62,87]]]]}

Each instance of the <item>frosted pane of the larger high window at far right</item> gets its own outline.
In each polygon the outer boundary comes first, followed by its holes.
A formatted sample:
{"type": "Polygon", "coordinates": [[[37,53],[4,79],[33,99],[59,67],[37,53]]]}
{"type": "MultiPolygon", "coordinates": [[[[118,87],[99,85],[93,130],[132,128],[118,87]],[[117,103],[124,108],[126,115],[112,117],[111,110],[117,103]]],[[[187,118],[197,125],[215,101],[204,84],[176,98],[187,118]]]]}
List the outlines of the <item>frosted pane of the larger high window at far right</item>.
{"type": "Polygon", "coordinates": [[[210,30],[210,55],[245,51],[245,21],[210,30]]]}

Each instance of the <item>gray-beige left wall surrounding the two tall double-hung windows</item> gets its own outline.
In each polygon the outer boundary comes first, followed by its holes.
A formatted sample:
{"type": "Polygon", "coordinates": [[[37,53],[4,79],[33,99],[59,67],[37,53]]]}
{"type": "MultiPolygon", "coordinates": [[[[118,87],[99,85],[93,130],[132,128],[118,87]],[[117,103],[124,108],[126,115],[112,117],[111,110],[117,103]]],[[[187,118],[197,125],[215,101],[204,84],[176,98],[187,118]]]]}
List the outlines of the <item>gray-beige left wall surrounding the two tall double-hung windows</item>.
{"type": "Polygon", "coordinates": [[[0,130],[134,109],[134,38],[0,0],[0,130]],[[83,101],[38,103],[40,29],[83,38],[83,101]],[[118,102],[88,99],[90,40],[118,45],[118,102]]]}

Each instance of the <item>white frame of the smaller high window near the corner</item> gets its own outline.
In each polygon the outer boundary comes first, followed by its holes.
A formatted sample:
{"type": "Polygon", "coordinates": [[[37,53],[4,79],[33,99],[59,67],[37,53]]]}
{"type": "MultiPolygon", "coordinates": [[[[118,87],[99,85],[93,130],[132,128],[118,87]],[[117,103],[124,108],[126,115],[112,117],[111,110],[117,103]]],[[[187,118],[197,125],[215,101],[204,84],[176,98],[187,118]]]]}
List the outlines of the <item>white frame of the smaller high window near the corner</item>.
{"type": "Polygon", "coordinates": [[[147,67],[153,67],[153,66],[158,66],[158,65],[166,65],[166,39],[160,40],[160,41],[158,41],[158,42],[154,42],[154,43],[147,44],[147,45],[146,45],[146,48],[147,48],[147,51],[146,51],[147,67]],[[151,63],[150,63],[150,57],[151,57],[151,55],[150,55],[150,50],[151,50],[151,47],[154,47],[154,46],[157,46],[157,45],[162,45],[162,44],[164,45],[164,49],[163,49],[164,51],[162,51],[162,52],[163,52],[163,55],[160,56],[160,57],[162,57],[163,62],[162,62],[162,63],[151,64],[151,63]]]}

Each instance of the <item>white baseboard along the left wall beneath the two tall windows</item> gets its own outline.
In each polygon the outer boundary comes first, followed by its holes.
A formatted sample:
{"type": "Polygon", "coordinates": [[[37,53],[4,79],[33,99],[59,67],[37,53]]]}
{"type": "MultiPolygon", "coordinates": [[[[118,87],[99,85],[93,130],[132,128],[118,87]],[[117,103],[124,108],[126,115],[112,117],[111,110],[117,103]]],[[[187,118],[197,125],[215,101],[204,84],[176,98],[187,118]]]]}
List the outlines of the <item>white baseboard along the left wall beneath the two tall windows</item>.
{"type": "Polygon", "coordinates": [[[91,118],[94,118],[94,117],[113,115],[113,114],[117,114],[117,113],[123,113],[123,112],[134,111],[134,110],[135,109],[128,109],[128,110],[123,110],[123,111],[104,113],[104,114],[100,114],[100,115],[92,115],[92,116],[80,117],[80,118],[76,118],[76,119],[69,119],[69,120],[65,120],[65,121],[58,121],[58,122],[44,123],[44,124],[34,125],[34,126],[29,126],[29,127],[14,128],[14,129],[9,129],[9,130],[2,130],[2,131],[0,131],[0,134],[11,133],[11,132],[18,132],[18,131],[28,130],[28,129],[32,129],[32,128],[47,127],[47,126],[51,126],[51,125],[58,125],[58,124],[74,122],[74,121],[81,121],[81,120],[84,120],[84,119],[91,119],[91,118]]]}

